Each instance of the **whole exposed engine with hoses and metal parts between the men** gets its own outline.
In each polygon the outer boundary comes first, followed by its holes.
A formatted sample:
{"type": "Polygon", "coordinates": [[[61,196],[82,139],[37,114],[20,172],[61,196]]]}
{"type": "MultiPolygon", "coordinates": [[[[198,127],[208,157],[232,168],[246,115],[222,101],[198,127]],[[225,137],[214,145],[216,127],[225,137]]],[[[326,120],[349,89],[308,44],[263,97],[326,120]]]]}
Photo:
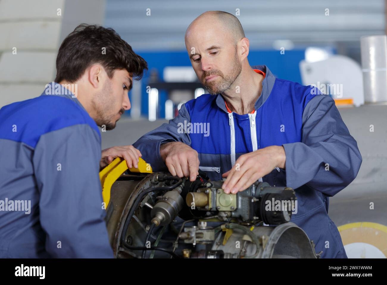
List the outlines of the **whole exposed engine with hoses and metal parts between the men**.
{"type": "Polygon", "coordinates": [[[230,195],[221,190],[223,181],[203,178],[152,173],[116,181],[106,216],[115,257],[319,257],[305,232],[289,222],[291,209],[277,207],[296,201],[293,189],[256,182],[230,195]]]}

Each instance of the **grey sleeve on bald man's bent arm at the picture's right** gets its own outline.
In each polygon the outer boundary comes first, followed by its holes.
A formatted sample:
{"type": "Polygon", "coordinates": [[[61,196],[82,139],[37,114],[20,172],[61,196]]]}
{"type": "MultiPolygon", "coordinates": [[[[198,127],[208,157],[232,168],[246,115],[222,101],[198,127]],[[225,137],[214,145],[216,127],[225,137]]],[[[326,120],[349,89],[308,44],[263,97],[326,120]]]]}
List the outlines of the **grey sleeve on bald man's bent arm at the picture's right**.
{"type": "Polygon", "coordinates": [[[286,185],[295,189],[306,184],[333,196],[358,174],[362,158],[356,140],[327,95],[308,102],[302,123],[302,141],[283,144],[286,185]]]}

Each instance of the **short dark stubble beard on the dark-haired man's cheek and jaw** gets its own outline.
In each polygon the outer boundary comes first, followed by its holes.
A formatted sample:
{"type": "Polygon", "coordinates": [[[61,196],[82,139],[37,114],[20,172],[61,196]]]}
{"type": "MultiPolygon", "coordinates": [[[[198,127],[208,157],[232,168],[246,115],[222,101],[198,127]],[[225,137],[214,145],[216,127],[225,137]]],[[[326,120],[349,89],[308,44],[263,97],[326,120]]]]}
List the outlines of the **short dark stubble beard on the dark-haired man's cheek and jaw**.
{"type": "Polygon", "coordinates": [[[94,121],[100,127],[105,126],[106,130],[113,130],[116,127],[116,123],[118,121],[113,121],[113,118],[117,116],[117,114],[123,114],[125,109],[121,108],[120,112],[111,114],[111,110],[106,104],[114,102],[111,102],[110,100],[110,98],[113,98],[113,96],[109,95],[111,95],[111,84],[110,82],[106,82],[103,86],[102,92],[96,94],[96,99],[92,101],[94,109],[96,110],[96,118],[94,121]]]}

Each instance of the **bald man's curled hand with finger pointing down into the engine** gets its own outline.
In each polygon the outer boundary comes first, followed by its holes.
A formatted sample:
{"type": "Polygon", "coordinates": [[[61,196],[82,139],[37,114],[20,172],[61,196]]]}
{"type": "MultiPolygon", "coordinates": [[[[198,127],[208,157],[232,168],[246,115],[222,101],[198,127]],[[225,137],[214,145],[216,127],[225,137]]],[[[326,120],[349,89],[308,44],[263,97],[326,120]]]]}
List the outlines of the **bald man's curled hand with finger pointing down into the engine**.
{"type": "Polygon", "coordinates": [[[163,143],[160,155],[173,176],[189,177],[195,181],[199,175],[199,157],[197,151],[182,142],[163,143]]]}

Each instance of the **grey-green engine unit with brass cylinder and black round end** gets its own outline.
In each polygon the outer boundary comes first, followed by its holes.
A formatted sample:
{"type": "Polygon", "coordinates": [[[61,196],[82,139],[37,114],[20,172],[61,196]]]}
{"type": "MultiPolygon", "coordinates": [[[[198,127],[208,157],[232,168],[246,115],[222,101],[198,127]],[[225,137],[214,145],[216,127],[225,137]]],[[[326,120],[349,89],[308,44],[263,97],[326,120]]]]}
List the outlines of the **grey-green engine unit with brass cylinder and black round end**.
{"type": "Polygon", "coordinates": [[[222,184],[223,181],[214,181],[185,189],[185,201],[191,210],[190,214],[185,214],[201,218],[217,215],[222,221],[237,218],[245,224],[263,221],[280,225],[290,221],[297,206],[295,192],[289,187],[271,187],[268,183],[256,182],[242,192],[226,194],[222,184]]]}

